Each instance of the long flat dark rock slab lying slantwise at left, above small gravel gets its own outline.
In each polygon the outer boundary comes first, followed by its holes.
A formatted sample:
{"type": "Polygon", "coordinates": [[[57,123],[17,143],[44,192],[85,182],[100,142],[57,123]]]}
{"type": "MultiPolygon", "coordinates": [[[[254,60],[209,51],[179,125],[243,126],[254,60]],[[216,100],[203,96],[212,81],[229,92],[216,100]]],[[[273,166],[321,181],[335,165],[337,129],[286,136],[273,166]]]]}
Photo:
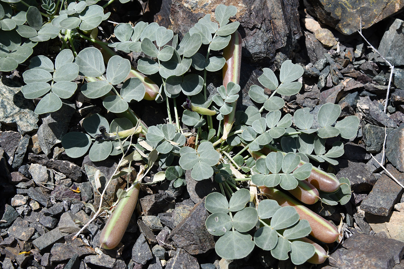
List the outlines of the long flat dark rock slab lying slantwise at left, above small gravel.
{"type": "Polygon", "coordinates": [[[73,181],[81,181],[81,168],[73,162],[48,159],[44,154],[37,155],[34,153],[28,153],[28,160],[30,162],[33,162],[34,164],[41,164],[49,169],[54,169],[58,172],[61,172],[73,181]]]}

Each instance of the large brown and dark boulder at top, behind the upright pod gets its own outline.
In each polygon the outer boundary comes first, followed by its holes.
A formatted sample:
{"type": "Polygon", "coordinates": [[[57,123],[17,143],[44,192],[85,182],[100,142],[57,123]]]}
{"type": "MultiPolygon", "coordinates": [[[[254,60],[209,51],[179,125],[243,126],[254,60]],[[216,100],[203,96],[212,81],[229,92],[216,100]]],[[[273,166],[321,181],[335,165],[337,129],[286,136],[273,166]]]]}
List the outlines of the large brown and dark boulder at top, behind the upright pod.
{"type": "MultiPolygon", "coordinates": [[[[159,6],[157,9],[156,7],[155,21],[183,36],[205,14],[212,14],[211,18],[213,18],[213,11],[219,4],[222,4],[219,0],[206,2],[203,5],[174,0],[166,4],[169,5],[166,8],[160,9],[159,6]]],[[[278,57],[282,54],[289,55],[296,40],[302,36],[297,11],[299,2],[296,0],[289,1],[287,5],[280,0],[264,4],[259,0],[249,1],[248,4],[231,0],[227,1],[226,5],[238,7],[234,17],[240,22],[243,46],[248,51],[245,54],[243,52],[243,59],[268,66],[268,62],[273,63],[278,51],[280,52],[278,57]],[[251,18],[256,19],[251,20],[251,18]]],[[[283,60],[280,62],[282,63],[283,60]]]]}

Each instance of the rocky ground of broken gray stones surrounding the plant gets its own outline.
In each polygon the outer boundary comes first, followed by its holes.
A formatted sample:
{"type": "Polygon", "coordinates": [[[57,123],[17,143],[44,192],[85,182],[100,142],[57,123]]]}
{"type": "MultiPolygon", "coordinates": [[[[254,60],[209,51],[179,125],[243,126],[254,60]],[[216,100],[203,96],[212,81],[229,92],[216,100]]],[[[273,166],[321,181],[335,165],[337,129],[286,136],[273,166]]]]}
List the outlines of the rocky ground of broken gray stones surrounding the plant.
{"type": "MultiPolygon", "coordinates": [[[[352,6],[352,10],[361,11],[353,13],[342,4],[330,7],[321,0],[268,2],[226,1],[238,7],[235,19],[241,23],[244,42],[239,109],[255,105],[247,93],[250,85],[258,83],[263,67],[275,70],[285,59],[292,59],[305,67],[305,73],[301,92],[285,97],[286,111],[309,107],[316,115],[320,105],[331,102],[341,105],[341,117],[356,115],[361,119],[358,135],[343,141],[345,154],[339,165],[322,165],[338,178],[349,178],[353,193],[345,206],[318,203],[312,207],[339,226],[344,235],[342,245],[327,246],[331,253],[328,262],[315,268],[404,268],[403,189],[371,157],[380,161],[385,153],[385,168],[404,184],[404,15],[392,15],[402,10],[403,4],[377,1],[380,7],[352,6]],[[331,15],[324,16],[327,13],[331,15]],[[361,15],[366,15],[362,19],[364,36],[395,66],[387,99],[391,70],[357,33],[361,15]]],[[[197,1],[184,4],[176,0],[149,1],[149,5],[114,3],[109,7],[109,21],[154,20],[181,35],[217,4],[211,1],[200,6],[197,1]]],[[[113,27],[104,23],[105,36],[100,37],[107,38],[113,27]]],[[[51,41],[37,46],[34,55],[50,55],[53,46],[57,44],[51,41]]],[[[140,56],[128,55],[134,64],[140,56]]],[[[32,101],[20,92],[24,66],[20,67],[1,74],[0,81],[2,268],[294,268],[290,261],[279,262],[257,249],[242,260],[220,259],[213,249],[214,238],[204,226],[207,213],[203,198],[216,186],[188,177],[187,186],[180,188],[169,182],[142,187],[139,206],[122,244],[114,250],[98,248],[102,218],[72,241],[91,216],[84,203],[99,203],[91,183],[95,171],[100,169],[101,177],[109,178],[116,160],[93,163],[88,156],[69,158],[60,138],[68,130],[80,130],[80,120],[100,112],[102,106],[78,94],[59,111],[38,118],[32,101]],[[80,192],[73,191],[77,188],[80,192]]],[[[210,88],[213,85],[214,77],[210,88]]],[[[163,123],[166,118],[164,108],[147,101],[135,111],[146,124],[163,123]]],[[[112,182],[107,203],[116,198],[116,190],[124,188],[125,182],[112,182]]],[[[299,268],[313,267],[304,264],[299,268]]]]}

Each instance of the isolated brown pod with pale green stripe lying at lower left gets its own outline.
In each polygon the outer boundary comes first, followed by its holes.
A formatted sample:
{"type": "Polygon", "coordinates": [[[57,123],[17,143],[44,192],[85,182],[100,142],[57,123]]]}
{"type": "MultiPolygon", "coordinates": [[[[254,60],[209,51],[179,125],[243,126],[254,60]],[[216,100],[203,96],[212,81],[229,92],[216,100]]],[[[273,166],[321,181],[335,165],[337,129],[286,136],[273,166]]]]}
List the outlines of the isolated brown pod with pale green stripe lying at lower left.
{"type": "Polygon", "coordinates": [[[100,247],[112,249],[118,246],[128,227],[133,210],[135,210],[139,196],[140,184],[130,189],[127,195],[122,198],[115,210],[112,212],[100,236],[100,247]]]}

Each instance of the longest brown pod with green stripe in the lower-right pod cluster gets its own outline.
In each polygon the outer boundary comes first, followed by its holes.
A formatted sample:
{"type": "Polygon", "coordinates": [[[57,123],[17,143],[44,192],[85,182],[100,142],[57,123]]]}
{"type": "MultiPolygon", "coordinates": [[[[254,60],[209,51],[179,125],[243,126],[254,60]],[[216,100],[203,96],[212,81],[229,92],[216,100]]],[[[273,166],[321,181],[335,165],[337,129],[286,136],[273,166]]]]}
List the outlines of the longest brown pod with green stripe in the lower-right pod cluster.
{"type": "Polygon", "coordinates": [[[300,216],[300,219],[305,219],[309,222],[311,227],[311,235],[324,243],[332,243],[338,239],[338,229],[335,225],[331,224],[326,219],[311,211],[309,208],[303,206],[296,200],[290,198],[282,191],[275,188],[259,187],[268,198],[278,202],[280,206],[293,206],[300,216]]]}

